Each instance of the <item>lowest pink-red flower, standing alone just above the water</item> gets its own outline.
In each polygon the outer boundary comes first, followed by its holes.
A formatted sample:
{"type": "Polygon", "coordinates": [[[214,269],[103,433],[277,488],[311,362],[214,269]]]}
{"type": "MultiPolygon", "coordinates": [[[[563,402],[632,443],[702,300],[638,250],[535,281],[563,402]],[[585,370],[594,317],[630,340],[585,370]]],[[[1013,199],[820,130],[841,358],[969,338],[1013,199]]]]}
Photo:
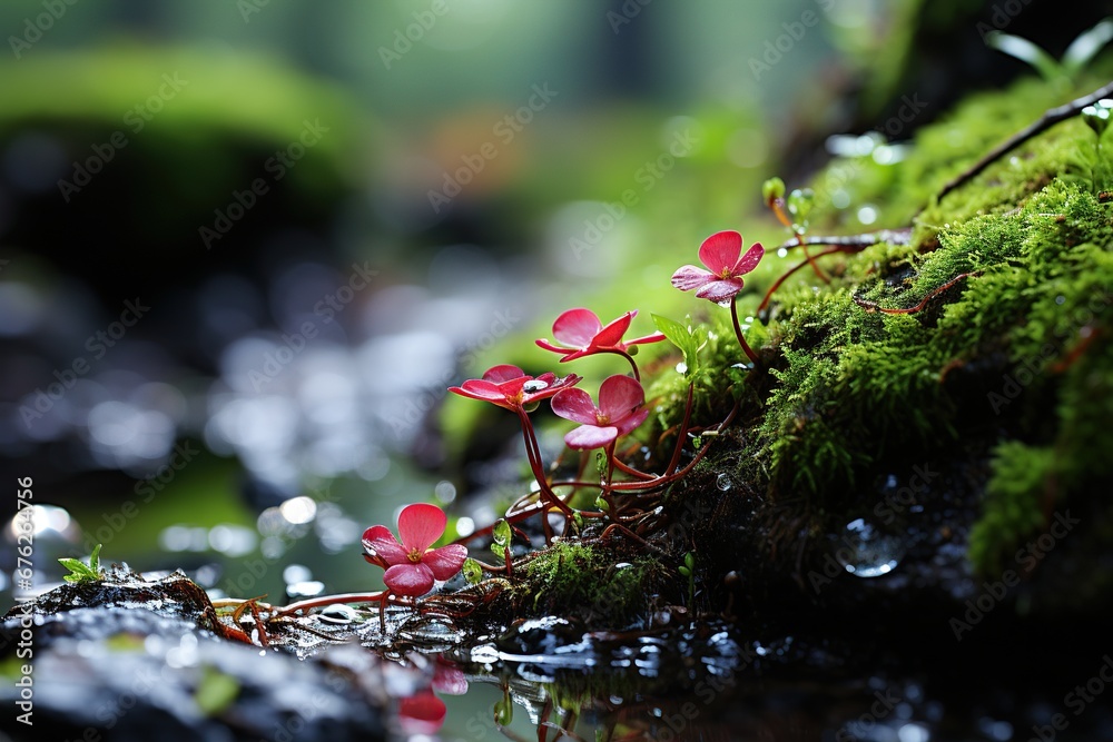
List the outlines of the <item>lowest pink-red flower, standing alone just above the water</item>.
{"type": "Polygon", "coordinates": [[[447,580],[460,572],[467,558],[467,547],[449,544],[430,548],[441,534],[447,518],[436,505],[406,505],[398,515],[402,543],[385,525],[373,525],[363,532],[364,557],[386,570],[383,582],[397,595],[424,595],[433,582],[447,580]]]}

